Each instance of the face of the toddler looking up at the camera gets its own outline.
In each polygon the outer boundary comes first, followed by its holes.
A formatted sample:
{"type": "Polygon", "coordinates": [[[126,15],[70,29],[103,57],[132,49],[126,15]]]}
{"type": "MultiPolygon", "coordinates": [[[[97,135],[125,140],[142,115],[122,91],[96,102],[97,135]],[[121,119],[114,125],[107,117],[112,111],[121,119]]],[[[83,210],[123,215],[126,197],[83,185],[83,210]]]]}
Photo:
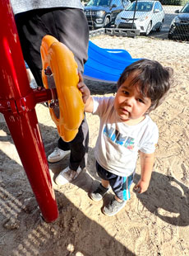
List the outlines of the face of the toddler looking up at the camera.
{"type": "Polygon", "coordinates": [[[131,73],[127,80],[122,83],[114,99],[114,108],[122,121],[141,119],[151,106],[150,97],[144,97],[137,84],[131,85],[131,81],[137,75],[131,73]]]}

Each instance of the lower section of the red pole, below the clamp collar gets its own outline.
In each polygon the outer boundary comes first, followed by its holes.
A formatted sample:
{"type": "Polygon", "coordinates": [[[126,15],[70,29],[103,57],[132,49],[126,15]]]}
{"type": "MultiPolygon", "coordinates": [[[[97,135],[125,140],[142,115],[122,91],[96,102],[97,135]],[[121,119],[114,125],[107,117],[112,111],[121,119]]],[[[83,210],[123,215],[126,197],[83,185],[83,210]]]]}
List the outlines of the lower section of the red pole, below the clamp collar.
{"type": "Polygon", "coordinates": [[[4,117],[42,216],[46,222],[52,222],[58,218],[58,207],[35,109],[21,115],[5,114],[4,117]]]}

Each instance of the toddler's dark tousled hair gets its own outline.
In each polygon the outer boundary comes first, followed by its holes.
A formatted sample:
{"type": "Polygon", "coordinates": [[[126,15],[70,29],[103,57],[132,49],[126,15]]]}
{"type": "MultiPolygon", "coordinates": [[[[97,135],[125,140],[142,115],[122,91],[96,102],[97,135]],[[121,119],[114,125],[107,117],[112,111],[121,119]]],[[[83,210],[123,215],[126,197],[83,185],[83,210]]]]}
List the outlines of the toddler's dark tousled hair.
{"type": "Polygon", "coordinates": [[[154,110],[163,102],[164,96],[170,88],[173,69],[165,68],[155,60],[140,59],[124,69],[118,79],[118,88],[133,71],[138,71],[138,73],[132,80],[131,86],[139,85],[142,95],[151,99],[149,111],[154,110]]]}

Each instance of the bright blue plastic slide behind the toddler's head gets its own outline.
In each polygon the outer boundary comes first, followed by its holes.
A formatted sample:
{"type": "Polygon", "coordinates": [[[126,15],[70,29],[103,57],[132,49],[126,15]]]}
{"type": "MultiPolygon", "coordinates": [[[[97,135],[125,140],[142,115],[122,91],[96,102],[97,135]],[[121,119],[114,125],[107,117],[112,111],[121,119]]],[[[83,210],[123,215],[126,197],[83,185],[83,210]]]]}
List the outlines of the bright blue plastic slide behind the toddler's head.
{"type": "Polygon", "coordinates": [[[127,50],[104,49],[90,41],[84,78],[117,83],[122,71],[136,60],[127,50]]]}

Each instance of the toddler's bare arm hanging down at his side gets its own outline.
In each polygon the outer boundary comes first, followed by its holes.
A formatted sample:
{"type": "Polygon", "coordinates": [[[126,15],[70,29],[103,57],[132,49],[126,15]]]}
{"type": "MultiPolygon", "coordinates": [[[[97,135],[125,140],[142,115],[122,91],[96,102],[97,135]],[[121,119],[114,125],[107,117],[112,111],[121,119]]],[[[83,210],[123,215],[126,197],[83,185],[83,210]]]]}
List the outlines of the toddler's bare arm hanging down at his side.
{"type": "Polygon", "coordinates": [[[141,179],[134,187],[139,193],[145,192],[150,184],[151,173],[154,167],[154,153],[145,154],[140,152],[141,155],[141,179]]]}

